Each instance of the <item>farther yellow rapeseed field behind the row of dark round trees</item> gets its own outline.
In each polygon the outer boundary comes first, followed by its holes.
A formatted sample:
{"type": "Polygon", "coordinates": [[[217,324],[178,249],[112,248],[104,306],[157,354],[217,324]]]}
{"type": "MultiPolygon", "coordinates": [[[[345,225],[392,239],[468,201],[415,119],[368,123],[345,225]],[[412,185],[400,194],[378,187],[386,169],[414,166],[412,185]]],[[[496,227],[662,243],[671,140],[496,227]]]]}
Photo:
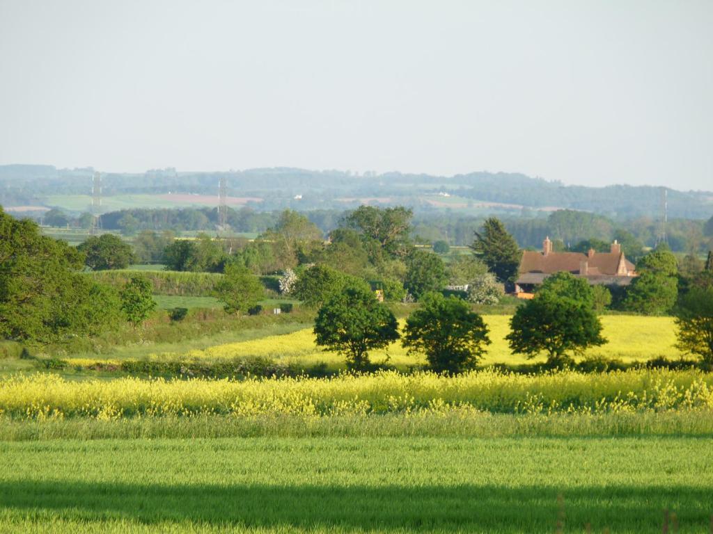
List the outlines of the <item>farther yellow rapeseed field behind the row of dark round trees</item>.
{"type": "MultiPolygon", "coordinates": [[[[490,328],[492,344],[481,364],[506,363],[517,365],[524,363],[523,355],[513,355],[508,348],[505,336],[509,330],[508,315],[486,315],[486,323],[490,328]]],[[[585,357],[617,358],[623,362],[650,360],[665,356],[678,358],[680,352],[674,348],[676,335],[674,322],[669,317],[640,317],[634,315],[605,315],[601,318],[604,335],[609,340],[602,347],[595,347],[585,352],[585,357]]],[[[156,360],[222,360],[237,357],[263,356],[284,363],[297,362],[300,365],[314,365],[326,362],[331,368],[343,367],[344,358],[334,352],[325,352],[314,345],[314,335],[311,328],[298,330],[287,335],[272,335],[257,340],[226,343],[205,350],[190,352],[164,353],[152,355],[156,360]]],[[[392,344],[388,350],[377,350],[370,353],[374,362],[385,362],[401,369],[424,363],[422,357],[406,354],[399,342],[392,344]]],[[[70,360],[74,363],[73,360],[70,360]]],[[[96,361],[96,360],[93,360],[96,361]]],[[[538,361],[538,360],[535,360],[538,361]]],[[[539,361],[544,361],[541,357],[539,361]]]]}

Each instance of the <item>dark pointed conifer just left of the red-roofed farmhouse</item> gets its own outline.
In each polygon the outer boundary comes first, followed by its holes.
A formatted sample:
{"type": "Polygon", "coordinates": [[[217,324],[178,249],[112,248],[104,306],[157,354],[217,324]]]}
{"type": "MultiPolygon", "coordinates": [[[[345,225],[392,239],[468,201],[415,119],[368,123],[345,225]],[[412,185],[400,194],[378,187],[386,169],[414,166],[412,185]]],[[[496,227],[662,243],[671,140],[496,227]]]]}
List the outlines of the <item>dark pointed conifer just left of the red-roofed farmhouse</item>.
{"type": "Polygon", "coordinates": [[[517,241],[496,217],[486,219],[482,231],[476,231],[471,248],[501,282],[512,281],[518,273],[522,252],[517,241]]]}

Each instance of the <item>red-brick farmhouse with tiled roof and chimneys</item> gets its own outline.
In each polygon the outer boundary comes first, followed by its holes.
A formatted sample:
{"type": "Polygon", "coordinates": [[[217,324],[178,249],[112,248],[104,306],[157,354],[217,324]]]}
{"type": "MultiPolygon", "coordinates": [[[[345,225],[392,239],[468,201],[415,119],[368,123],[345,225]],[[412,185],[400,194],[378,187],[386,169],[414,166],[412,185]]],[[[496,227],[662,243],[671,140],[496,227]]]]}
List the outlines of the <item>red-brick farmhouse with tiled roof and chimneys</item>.
{"type": "Polygon", "coordinates": [[[535,288],[545,278],[554,273],[567,271],[575,276],[587,278],[591,285],[628,286],[635,278],[635,266],[622,252],[615,240],[609,252],[588,253],[553,252],[552,241],[545,238],[542,251],[524,251],[520,260],[518,279],[515,281],[515,295],[519,298],[533,298],[535,288]]]}

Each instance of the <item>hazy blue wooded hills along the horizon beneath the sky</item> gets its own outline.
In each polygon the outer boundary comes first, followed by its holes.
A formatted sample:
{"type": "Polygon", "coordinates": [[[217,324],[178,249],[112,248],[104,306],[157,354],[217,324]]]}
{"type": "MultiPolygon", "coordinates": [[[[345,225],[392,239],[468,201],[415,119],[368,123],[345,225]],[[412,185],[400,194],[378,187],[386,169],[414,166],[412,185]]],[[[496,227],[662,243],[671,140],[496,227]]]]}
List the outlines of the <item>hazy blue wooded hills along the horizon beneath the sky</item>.
{"type": "MultiPolygon", "coordinates": [[[[91,194],[91,168],[58,169],[51,165],[0,166],[0,204],[60,207],[83,211],[91,194]],[[87,198],[83,198],[86,196],[87,198]],[[66,198],[63,198],[66,197],[66,198]],[[66,201],[66,202],[65,202],[66,201]]],[[[275,167],[228,172],[177,172],[153,169],[143,174],[103,174],[103,195],[134,197],[137,207],[215,204],[217,181],[227,177],[234,204],[256,210],[346,209],[361,203],[403,204],[416,211],[450,209],[463,212],[512,212],[555,209],[592,211],[615,219],[658,216],[662,188],[613,185],[583,187],[550,182],[525,174],[471,172],[451,177],[386,172],[275,167]],[[188,197],[188,195],[192,195],[188,197]],[[199,197],[206,195],[205,199],[199,197]]],[[[131,199],[114,207],[130,207],[131,199]]],[[[713,213],[713,192],[667,189],[669,216],[707,219],[713,213]]],[[[533,214],[534,215],[534,214],[533,214]]]]}

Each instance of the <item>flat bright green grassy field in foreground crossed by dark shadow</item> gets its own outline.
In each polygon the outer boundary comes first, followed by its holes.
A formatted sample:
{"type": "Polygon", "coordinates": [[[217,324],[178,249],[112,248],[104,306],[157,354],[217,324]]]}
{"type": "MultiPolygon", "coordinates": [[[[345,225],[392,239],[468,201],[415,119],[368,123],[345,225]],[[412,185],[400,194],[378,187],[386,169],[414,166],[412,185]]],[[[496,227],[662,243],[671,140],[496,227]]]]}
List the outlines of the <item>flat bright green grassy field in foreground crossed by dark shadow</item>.
{"type": "Polygon", "coordinates": [[[703,533],[712,466],[689,437],[1,443],[0,529],[703,533]]]}

